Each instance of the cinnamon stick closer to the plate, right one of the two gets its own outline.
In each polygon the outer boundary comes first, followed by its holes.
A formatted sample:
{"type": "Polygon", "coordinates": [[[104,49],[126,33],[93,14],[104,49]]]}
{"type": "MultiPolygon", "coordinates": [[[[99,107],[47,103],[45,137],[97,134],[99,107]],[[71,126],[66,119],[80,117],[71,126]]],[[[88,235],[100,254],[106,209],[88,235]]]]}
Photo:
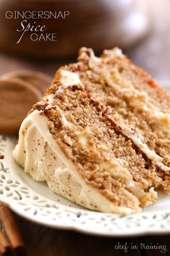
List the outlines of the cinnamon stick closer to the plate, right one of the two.
{"type": "Polygon", "coordinates": [[[12,246],[12,249],[17,249],[18,247],[24,247],[24,242],[22,236],[19,233],[19,228],[17,222],[15,221],[12,210],[10,210],[6,205],[0,204],[0,220],[6,236],[12,246]]]}

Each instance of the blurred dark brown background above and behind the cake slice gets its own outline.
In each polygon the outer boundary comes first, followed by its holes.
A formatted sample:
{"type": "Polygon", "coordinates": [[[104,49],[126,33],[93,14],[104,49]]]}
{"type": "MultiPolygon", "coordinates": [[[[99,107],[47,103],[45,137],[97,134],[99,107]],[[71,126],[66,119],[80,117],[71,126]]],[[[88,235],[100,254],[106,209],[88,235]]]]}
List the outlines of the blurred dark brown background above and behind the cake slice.
{"type": "Polygon", "coordinates": [[[0,12],[0,74],[32,69],[53,75],[61,64],[76,60],[81,46],[97,54],[120,46],[153,77],[170,79],[169,0],[1,0],[0,12]],[[40,21],[48,31],[57,31],[57,42],[32,42],[27,33],[16,44],[21,20],[7,20],[9,10],[68,10],[70,15],[40,21]]]}

